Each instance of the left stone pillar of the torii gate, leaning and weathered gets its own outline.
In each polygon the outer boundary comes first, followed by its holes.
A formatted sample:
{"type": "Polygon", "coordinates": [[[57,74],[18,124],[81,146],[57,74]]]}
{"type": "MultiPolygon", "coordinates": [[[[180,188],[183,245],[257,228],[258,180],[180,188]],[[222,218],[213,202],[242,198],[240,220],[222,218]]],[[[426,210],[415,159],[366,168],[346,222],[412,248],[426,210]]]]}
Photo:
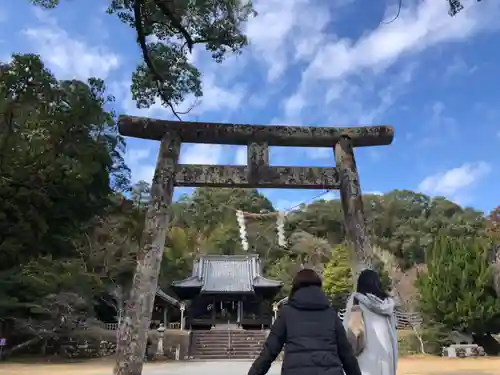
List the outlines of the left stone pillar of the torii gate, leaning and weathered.
{"type": "Polygon", "coordinates": [[[151,201],[146,213],[144,242],[137,256],[130,298],[118,335],[115,375],[140,375],[142,372],[147,332],[167,235],[167,208],[172,202],[180,146],[180,139],[175,134],[168,133],[160,145],[151,185],[151,201]]]}

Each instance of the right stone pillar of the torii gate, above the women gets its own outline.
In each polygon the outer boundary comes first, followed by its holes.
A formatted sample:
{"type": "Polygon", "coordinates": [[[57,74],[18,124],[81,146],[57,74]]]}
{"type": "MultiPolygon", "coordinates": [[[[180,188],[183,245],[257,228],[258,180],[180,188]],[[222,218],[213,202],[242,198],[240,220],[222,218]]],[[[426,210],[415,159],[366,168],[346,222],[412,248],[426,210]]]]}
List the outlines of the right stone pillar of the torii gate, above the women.
{"type": "Polygon", "coordinates": [[[335,144],[334,153],[340,180],[340,201],[344,211],[346,234],[353,251],[351,253],[353,278],[357,280],[361,268],[371,261],[372,248],[366,230],[363,196],[351,139],[341,137],[335,144]]]}

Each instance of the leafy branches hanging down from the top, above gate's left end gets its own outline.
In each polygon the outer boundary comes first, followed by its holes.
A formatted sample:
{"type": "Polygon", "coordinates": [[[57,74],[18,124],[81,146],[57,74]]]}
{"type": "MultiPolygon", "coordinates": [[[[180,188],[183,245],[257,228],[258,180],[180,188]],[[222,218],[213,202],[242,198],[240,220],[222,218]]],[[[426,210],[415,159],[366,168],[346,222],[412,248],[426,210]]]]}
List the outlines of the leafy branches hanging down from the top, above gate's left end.
{"type": "MultiPolygon", "coordinates": [[[[31,2],[44,8],[60,3],[31,2]]],[[[112,0],[107,12],[132,27],[137,35],[143,55],[143,62],[132,75],[132,97],[137,107],[149,108],[161,98],[177,117],[181,114],[176,110],[179,104],[203,94],[200,71],[189,62],[195,45],[203,45],[218,63],[228,53],[241,53],[248,44],[244,23],[256,15],[252,2],[245,0],[112,0]]]]}

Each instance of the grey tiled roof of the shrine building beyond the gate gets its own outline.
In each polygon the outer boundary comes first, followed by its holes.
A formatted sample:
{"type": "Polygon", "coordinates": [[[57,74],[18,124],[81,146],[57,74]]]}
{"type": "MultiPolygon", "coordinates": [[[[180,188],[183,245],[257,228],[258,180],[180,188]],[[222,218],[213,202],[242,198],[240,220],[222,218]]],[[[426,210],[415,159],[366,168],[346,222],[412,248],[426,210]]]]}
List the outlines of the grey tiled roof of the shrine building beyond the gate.
{"type": "Polygon", "coordinates": [[[172,286],[199,288],[200,293],[253,293],[255,288],[280,288],[282,283],[261,275],[257,254],[203,255],[195,261],[192,275],[172,286]]]}

